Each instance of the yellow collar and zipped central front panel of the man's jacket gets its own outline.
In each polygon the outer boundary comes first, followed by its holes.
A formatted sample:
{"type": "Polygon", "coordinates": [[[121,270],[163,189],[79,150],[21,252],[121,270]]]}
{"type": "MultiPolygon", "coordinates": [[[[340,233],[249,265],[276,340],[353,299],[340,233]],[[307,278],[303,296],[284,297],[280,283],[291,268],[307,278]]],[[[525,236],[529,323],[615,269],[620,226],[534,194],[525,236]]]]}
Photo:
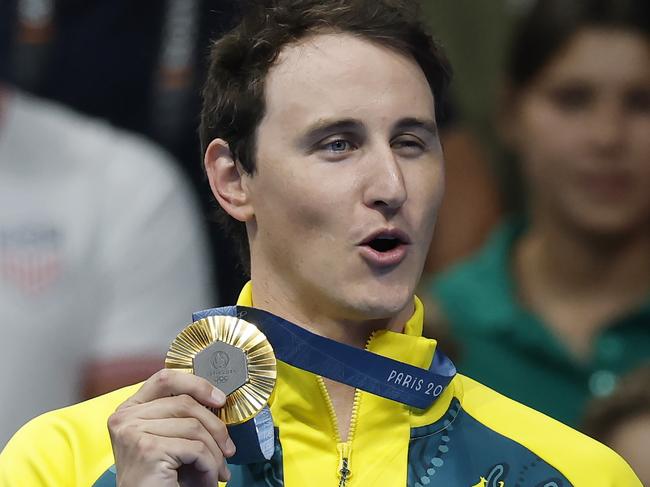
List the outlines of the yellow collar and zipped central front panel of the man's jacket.
{"type": "MultiPolygon", "coordinates": [[[[252,306],[247,285],[239,303],[252,306]]],[[[367,349],[379,355],[428,368],[436,342],[421,336],[424,310],[415,298],[415,312],[405,324],[404,333],[379,331],[367,349]]],[[[287,486],[332,485],[339,483],[341,452],[349,455],[351,472],[348,485],[406,485],[406,462],[410,428],[421,422],[432,423],[447,410],[452,396],[444,394],[426,414],[379,396],[359,391],[354,434],[342,443],[329,398],[318,377],[285,363],[278,364],[278,380],[271,412],[280,425],[284,480],[287,486]],[[379,441],[401,438],[402,441],[379,441]]]]}

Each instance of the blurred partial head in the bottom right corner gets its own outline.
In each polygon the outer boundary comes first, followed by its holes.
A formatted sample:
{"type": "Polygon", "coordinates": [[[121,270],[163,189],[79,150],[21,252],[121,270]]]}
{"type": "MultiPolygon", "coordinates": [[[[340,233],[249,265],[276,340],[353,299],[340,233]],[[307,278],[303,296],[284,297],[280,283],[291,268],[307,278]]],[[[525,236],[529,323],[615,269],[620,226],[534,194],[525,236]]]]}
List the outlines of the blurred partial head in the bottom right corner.
{"type": "Polygon", "coordinates": [[[608,445],[650,485],[650,364],[626,374],[607,397],[589,403],[583,430],[608,445]]]}

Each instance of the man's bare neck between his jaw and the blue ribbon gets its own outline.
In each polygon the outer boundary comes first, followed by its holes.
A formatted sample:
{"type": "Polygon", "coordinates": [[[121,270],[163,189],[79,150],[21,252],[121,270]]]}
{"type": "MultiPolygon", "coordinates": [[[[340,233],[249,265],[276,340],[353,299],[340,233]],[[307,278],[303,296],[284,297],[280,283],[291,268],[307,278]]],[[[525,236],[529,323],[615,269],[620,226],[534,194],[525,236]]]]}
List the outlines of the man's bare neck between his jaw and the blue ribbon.
{"type": "MultiPolygon", "coordinates": [[[[346,313],[332,311],[331,303],[323,302],[317,296],[301,287],[283,287],[277,280],[265,279],[251,274],[253,305],[281,316],[306,330],[340,343],[364,348],[375,331],[390,330],[401,333],[404,324],[413,313],[413,303],[395,316],[381,319],[364,319],[362,316],[346,317],[346,313]],[[308,303],[308,305],[306,304],[308,303]]],[[[352,313],[350,313],[352,314],[352,313]]]]}

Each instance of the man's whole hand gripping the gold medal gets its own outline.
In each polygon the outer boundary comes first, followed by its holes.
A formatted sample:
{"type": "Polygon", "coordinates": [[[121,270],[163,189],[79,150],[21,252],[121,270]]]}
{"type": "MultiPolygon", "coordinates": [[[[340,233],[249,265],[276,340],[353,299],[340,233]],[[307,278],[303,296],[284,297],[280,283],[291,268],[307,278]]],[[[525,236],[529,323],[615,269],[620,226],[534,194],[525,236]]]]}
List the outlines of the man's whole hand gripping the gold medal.
{"type": "Polygon", "coordinates": [[[108,419],[120,487],[216,487],[235,453],[226,425],[206,406],[226,396],[207,380],[160,370],[108,419]]]}

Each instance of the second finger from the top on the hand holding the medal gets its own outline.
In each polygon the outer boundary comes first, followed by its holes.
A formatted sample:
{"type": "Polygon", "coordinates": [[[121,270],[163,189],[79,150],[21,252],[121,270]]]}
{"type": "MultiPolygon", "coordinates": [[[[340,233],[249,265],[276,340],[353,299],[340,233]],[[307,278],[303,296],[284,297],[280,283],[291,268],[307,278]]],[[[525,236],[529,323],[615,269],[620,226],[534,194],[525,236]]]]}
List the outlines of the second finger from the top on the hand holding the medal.
{"type": "MultiPolygon", "coordinates": [[[[187,430],[192,431],[193,427],[201,426],[201,428],[213,438],[217,443],[221,452],[226,458],[235,454],[235,445],[233,444],[226,425],[215,416],[209,409],[196,402],[192,397],[181,395],[176,397],[165,397],[156,399],[147,404],[137,404],[129,408],[129,415],[139,420],[149,420],[143,423],[150,423],[152,420],[164,420],[165,418],[172,418],[169,422],[170,426],[163,430],[152,430],[153,426],[143,428],[144,431],[159,434],[161,436],[179,436],[190,438],[184,434],[186,425],[190,428],[187,430]],[[176,419],[178,418],[178,419],[176,419]],[[196,424],[189,424],[181,421],[182,419],[191,419],[196,424]]],[[[120,414],[119,412],[116,414],[120,414]]],[[[194,438],[196,439],[196,438],[194,438]]]]}

